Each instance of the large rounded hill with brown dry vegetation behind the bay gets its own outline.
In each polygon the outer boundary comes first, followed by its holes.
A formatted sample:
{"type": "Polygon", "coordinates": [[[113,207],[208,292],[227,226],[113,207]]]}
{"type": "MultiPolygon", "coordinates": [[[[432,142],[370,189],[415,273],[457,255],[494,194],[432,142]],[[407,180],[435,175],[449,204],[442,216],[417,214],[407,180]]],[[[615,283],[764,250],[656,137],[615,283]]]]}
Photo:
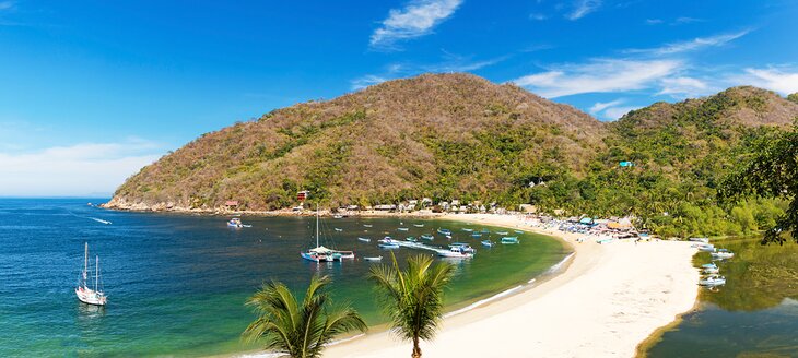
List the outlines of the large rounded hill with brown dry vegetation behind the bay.
{"type": "Polygon", "coordinates": [[[518,203],[529,180],[584,172],[605,123],[514,85],[470,74],[389,81],[278,109],[202,135],[127,180],[113,204],[240,208],[402,199],[518,203]]]}

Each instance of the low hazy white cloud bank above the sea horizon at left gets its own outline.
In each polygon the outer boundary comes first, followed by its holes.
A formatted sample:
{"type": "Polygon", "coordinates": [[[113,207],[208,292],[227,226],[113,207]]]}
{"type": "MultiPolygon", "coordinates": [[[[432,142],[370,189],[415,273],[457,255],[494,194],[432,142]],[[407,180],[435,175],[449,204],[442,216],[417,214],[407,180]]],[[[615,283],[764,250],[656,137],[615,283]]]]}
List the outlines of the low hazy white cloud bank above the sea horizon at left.
{"type": "Polygon", "coordinates": [[[36,152],[0,152],[0,195],[110,193],[161,155],[151,142],[82,143],[36,152]]]}

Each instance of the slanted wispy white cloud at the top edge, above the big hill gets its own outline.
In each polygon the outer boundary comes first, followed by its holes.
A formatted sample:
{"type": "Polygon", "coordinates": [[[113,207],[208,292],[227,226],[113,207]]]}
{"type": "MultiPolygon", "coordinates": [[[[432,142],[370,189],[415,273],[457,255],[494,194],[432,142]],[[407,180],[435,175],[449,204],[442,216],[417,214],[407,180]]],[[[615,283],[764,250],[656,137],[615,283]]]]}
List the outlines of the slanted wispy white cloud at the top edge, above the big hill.
{"type": "Polygon", "coordinates": [[[382,27],[372,34],[371,45],[394,48],[398,40],[424,36],[451,16],[461,3],[462,0],[414,0],[403,9],[392,9],[382,27]]]}

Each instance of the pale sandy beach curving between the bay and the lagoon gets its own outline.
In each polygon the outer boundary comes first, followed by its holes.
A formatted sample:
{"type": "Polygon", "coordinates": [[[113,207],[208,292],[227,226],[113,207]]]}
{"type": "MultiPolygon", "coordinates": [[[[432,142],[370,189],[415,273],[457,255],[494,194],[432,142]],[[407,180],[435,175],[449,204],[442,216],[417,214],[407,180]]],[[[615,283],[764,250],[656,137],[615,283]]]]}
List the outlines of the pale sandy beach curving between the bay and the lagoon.
{"type": "MultiPolygon", "coordinates": [[[[446,218],[517,227],[508,215],[446,218]]],[[[529,228],[525,228],[529,229],[529,228]]],[[[689,311],[697,298],[695,249],[689,242],[576,243],[562,274],[483,307],[445,319],[424,357],[633,357],[658,327],[689,311]]],[[[408,357],[411,345],[389,332],[333,345],[325,357],[408,357]]]]}

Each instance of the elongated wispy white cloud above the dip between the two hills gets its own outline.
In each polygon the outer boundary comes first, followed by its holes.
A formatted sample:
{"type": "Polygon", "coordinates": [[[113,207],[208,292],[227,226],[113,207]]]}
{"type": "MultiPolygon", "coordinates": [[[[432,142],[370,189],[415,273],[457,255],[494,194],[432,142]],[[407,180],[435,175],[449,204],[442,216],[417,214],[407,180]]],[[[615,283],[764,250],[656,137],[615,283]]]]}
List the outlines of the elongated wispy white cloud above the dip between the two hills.
{"type": "Polygon", "coordinates": [[[648,88],[674,74],[680,65],[677,60],[596,59],[577,65],[561,65],[512,82],[547,98],[624,92],[648,88]]]}

